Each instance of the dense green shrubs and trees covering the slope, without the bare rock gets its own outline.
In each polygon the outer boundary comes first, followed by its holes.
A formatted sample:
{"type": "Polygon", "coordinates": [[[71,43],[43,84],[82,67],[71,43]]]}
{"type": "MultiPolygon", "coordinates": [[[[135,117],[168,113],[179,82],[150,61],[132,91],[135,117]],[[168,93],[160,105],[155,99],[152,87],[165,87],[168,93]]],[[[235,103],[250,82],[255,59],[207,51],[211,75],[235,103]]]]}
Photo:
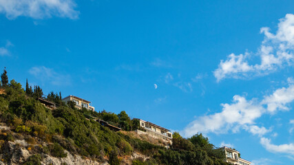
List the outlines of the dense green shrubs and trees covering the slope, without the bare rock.
{"type": "MultiPolygon", "coordinates": [[[[35,99],[43,94],[39,86],[34,88],[34,98],[26,93],[27,89],[30,90],[30,87],[28,88],[24,91],[21,84],[15,80],[10,81],[6,87],[6,95],[0,95],[0,120],[10,124],[19,134],[26,134],[28,138],[25,140],[32,144],[36,142],[35,139],[53,142],[50,146],[39,147],[43,153],[66,157],[66,149],[92,159],[103,160],[106,155],[109,156],[110,164],[120,164],[118,155],[131,155],[136,151],[149,156],[150,159],[145,162],[136,159],[133,164],[227,164],[222,162],[224,152],[210,144],[207,137],[203,137],[201,133],[189,139],[174,133],[171,149],[167,150],[163,146],[116,133],[92,120],[102,119],[109,124],[120,126],[125,131],[140,128],[140,122],[136,119],[130,120],[125,111],[118,115],[107,111],[97,113],[76,109],[74,102],[69,102],[68,106],[60,104],[52,111],[35,99]]],[[[61,94],[50,92],[48,100],[58,104],[61,94]]],[[[12,141],[13,137],[8,134],[3,140],[12,141]]],[[[25,163],[38,164],[38,159],[39,156],[34,155],[25,163]]]]}

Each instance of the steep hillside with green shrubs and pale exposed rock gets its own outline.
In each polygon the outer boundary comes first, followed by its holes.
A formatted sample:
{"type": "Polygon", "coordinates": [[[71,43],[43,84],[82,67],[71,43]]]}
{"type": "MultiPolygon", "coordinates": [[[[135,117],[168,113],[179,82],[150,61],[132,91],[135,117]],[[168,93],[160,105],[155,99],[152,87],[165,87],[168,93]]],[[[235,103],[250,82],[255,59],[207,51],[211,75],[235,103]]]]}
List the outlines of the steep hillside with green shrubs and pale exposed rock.
{"type": "Polygon", "coordinates": [[[174,133],[170,149],[134,135],[138,121],[118,114],[76,109],[48,94],[58,106],[51,110],[39,100],[41,87],[11,80],[0,94],[0,164],[227,164],[224,153],[202,134],[185,139],[174,133]],[[105,120],[123,131],[96,122],[105,120]]]}

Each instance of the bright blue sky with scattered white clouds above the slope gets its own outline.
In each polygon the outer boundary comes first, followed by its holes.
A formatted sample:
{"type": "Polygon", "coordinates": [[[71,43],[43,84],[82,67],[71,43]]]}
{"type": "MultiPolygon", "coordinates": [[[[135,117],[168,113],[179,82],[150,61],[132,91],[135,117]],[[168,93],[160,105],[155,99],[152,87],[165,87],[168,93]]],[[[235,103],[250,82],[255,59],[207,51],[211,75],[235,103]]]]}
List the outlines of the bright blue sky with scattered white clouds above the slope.
{"type": "Polygon", "coordinates": [[[293,1],[0,0],[23,85],[293,164],[293,1]],[[157,86],[157,88],[155,87],[157,86]]]}

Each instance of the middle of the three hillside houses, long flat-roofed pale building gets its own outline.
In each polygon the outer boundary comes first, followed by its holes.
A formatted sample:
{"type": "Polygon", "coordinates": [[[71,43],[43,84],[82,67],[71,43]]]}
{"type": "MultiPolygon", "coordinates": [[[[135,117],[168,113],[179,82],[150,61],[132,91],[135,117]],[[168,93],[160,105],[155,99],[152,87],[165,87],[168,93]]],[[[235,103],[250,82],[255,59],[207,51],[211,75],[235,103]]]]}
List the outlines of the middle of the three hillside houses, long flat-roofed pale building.
{"type": "MultiPolygon", "coordinates": [[[[138,119],[138,118],[137,118],[138,119]]],[[[161,138],[163,140],[171,141],[173,136],[170,130],[158,126],[152,122],[146,122],[145,120],[138,119],[140,121],[140,127],[145,129],[146,132],[137,130],[137,133],[147,133],[153,137],[161,138]]]]}

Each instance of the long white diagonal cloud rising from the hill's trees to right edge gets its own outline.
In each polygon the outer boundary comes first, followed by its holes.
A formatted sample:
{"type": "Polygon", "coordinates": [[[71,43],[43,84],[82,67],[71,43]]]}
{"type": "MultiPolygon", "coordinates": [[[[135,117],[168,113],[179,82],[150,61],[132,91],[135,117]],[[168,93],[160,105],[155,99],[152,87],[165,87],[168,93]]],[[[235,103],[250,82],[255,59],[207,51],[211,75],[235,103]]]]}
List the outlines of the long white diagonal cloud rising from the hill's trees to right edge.
{"type": "Polygon", "coordinates": [[[201,133],[226,133],[231,130],[237,132],[239,129],[249,131],[253,135],[262,136],[269,133],[271,129],[255,125],[255,120],[264,113],[275,113],[289,108],[288,103],[294,100],[294,85],[289,84],[287,88],[282,87],[264,99],[258,101],[256,98],[246,100],[244,96],[233,96],[231,104],[221,104],[222,111],[211,115],[203,115],[191,122],[183,131],[187,137],[201,133]]]}

